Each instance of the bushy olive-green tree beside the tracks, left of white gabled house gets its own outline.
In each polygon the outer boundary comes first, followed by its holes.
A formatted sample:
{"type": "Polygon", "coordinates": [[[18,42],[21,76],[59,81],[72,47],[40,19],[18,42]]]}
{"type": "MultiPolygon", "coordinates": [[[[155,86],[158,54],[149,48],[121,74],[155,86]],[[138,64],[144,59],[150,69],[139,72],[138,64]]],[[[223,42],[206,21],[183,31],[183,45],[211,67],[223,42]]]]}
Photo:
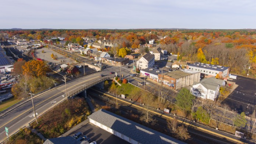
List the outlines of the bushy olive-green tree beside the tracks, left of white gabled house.
{"type": "Polygon", "coordinates": [[[192,95],[188,89],[182,88],[175,98],[176,104],[180,109],[183,111],[189,111],[191,110],[193,104],[192,100],[195,99],[195,96],[192,95]]]}

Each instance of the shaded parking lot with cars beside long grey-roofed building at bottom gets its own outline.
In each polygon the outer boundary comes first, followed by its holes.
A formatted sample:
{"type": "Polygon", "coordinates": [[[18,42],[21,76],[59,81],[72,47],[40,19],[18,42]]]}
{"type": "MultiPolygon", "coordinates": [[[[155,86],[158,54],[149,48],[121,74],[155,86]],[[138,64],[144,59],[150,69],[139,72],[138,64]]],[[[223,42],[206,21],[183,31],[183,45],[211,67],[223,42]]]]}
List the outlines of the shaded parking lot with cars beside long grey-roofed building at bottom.
{"type": "Polygon", "coordinates": [[[90,137],[92,141],[96,141],[97,143],[103,144],[113,144],[113,143],[129,143],[91,123],[87,123],[84,126],[78,128],[77,130],[73,131],[69,136],[72,136],[76,132],[82,132],[83,135],[90,137]]]}

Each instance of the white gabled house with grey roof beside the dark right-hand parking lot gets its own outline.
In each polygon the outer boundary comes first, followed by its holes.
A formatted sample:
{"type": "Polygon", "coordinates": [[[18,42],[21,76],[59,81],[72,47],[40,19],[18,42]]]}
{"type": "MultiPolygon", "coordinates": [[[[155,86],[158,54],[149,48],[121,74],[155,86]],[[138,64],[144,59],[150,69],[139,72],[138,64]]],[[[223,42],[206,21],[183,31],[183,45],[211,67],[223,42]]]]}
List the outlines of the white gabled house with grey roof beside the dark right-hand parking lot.
{"type": "Polygon", "coordinates": [[[191,93],[203,99],[215,100],[219,95],[220,86],[224,86],[225,81],[215,77],[202,79],[200,82],[192,85],[191,93]]]}

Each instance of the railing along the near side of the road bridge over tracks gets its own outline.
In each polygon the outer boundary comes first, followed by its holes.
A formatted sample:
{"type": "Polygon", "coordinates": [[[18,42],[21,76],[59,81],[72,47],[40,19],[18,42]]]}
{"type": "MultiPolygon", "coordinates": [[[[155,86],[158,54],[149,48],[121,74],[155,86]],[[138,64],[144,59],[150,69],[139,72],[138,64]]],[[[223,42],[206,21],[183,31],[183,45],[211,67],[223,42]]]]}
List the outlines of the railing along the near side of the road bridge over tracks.
{"type": "Polygon", "coordinates": [[[67,95],[68,95],[68,97],[72,97],[72,96],[80,93],[81,91],[83,91],[91,86],[94,86],[102,81],[108,80],[110,78],[113,78],[113,77],[105,76],[105,77],[101,77],[98,79],[94,79],[92,81],[88,81],[86,84],[82,84],[82,85],[76,87],[75,89],[73,89],[72,91],[69,91],[67,95]]]}

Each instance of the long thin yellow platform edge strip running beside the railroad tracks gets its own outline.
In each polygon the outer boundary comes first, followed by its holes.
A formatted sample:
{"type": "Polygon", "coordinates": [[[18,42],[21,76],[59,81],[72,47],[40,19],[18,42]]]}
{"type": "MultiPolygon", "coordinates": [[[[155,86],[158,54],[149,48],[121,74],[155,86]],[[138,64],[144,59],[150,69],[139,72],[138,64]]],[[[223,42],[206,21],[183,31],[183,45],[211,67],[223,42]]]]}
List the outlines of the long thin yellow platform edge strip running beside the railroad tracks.
{"type": "MultiPolygon", "coordinates": [[[[97,90],[96,90],[96,91],[97,91],[97,90]]],[[[111,96],[111,95],[109,95],[109,94],[103,93],[103,92],[101,92],[101,91],[98,91],[98,92],[100,92],[100,93],[102,93],[102,94],[105,94],[105,95],[107,95],[107,96],[109,96],[109,97],[116,98],[116,97],[114,97],[114,96],[111,96]]],[[[124,101],[124,100],[122,100],[122,99],[118,99],[118,100],[120,100],[120,101],[122,101],[122,102],[124,102],[124,103],[127,103],[127,104],[131,104],[131,105],[133,105],[133,106],[135,106],[135,107],[138,107],[138,108],[141,108],[141,109],[146,110],[146,108],[141,107],[141,106],[138,106],[138,105],[136,105],[136,104],[126,102],[126,101],[124,101]]],[[[163,117],[165,117],[165,118],[173,119],[173,118],[170,117],[170,116],[166,116],[166,115],[164,115],[164,114],[161,114],[161,113],[152,111],[152,110],[150,110],[150,109],[148,109],[148,111],[150,111],[150,112],[152,112],[152,113],[154,113],[154,114],[163,116],[163,117]]],[[[222,134],[218,134],[218,133],[216,133],[216,132],[213,132],[213,131],[204,129],[204,128],[202,128],[202,127],[198,127],[198,126],[189,124],[189,123],[187,123],[187,122],[184,122],[184,121],[181,121],[181,120],[178,120],[178,119],[177,119],[177,121],[178,121],[179,123],[184,123],[185,125],[190,125],[190,126],[192,126],[192,127],[194,127],[194,128],[200,129],[200,130],[202,130],[202,131],[204,131],[204,132],[214,134],[215,136],[224,137],[224,138],[229,139],[229,140],[232,140],[232,141],[234,141],[234,142],[242,143],[242,141],[239,141],[239,140],[237,140],[237,139],[233,139],[233,138],[231,138],[231,137],[228,137],[228,136],[225,136],[225,135],[222,135],[222,134]]]]}

